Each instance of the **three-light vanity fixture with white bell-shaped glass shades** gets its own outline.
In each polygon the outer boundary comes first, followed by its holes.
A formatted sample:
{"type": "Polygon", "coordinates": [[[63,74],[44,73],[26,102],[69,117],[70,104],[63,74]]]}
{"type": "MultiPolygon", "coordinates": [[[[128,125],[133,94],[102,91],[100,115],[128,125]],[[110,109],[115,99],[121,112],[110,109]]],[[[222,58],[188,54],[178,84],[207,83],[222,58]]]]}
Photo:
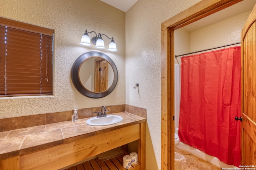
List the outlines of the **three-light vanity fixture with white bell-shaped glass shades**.
{"type": "MultiPolygon", "coordinates": [[[[96,33],[95,31],[88,32],[87,29],[85,30],[85,33],[84,33],[84,35],[82,36],[81,42],[80,42],[79,44],[84,45],[84,46],[87,46],[87,47],[92,46],[92,45],[91,45],[90,37],[89,37],[89,35],[88,35],[88,33],[92,33],[92,32],[94,32],[95,35],[96,35],[96,37],[93,37],[93,38],[92,38],[92,43],[95,45],[95,48],[97,48],[97,49],[106,49],[106,48],[105,48],[105,45],[104,45],[104,41],[103,41],[103,39],[102,39],[102,37],[101,37],[102,35],[105,35],[105,34],[98,33],[98,35],[97,35],[97,33],[96,33]]],[[[109,44],[109,47],[108,47],[108,51],[112,51],[112,52],[118,51],[118,50],[116,49],[116,43],[115,43],[115,41],[114,41],[114,38],[113,38],[113,37],[110,38],[110,37],[108,37],[107,35],[105,35],[105,36],[106,36],[108,39],[111,39],[110,44],[109,44]]]]}

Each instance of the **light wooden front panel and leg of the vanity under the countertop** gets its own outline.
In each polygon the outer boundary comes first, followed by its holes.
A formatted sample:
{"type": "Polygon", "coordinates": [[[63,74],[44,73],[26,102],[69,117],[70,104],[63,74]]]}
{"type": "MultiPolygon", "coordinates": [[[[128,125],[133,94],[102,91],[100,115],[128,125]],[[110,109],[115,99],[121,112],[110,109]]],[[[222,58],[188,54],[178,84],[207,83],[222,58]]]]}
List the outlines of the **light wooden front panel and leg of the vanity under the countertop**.
{"type": "Polygon", "coordinates": [[[0,161],[1,170],[57,170],[138,140],[136,169],[145,169],[145,123],[123,127],[92,137],[0,161]]]}

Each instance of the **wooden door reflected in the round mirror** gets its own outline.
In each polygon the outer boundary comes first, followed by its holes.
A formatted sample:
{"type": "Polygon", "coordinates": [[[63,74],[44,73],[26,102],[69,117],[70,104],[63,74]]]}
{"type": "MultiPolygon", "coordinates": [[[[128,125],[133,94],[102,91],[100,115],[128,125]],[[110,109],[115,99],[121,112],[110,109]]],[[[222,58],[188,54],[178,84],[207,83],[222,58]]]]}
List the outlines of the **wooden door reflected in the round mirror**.
{"type": "Polygon", "coordinates": [[[100,93],[108,89],[108,62],[104,59],[95,60],[94,92],[100,93]]]}

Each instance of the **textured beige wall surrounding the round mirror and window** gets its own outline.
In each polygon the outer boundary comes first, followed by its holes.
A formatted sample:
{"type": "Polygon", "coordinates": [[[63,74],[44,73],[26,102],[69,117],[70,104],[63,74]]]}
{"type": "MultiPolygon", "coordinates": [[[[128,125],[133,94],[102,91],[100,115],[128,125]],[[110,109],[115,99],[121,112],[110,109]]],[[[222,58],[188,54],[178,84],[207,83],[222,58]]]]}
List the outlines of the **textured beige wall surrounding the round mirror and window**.
{"type": "MultiPolygon", "coordinates": [[[[125,13],[100,0],[0,0],[0,16],[52,28],[54,34],[54,95],[0,98],[0,118],[68,111],[75,108],[125,104],[125,13]],[[114,37],[118,52],[78,43],[85,29],[114,37]],[[83,53],[100,51],[118,69],[118,84],[108,96],[91,99],[74,87],[70,70],[83,53]]],[[[92,36],[93,34],[90,34],[92,36]]],[[[110,40],[103,37],[108,47],[110,40]]]]}

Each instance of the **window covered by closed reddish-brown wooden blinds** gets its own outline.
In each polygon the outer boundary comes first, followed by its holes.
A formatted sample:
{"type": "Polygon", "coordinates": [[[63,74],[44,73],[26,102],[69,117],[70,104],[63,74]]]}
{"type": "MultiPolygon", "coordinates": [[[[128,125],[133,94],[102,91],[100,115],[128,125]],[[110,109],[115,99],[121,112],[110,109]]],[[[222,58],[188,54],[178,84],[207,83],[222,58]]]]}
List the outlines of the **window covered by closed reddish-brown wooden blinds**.
{"type": "Polygon", "coordinates": [[[0,17],[0,97],[52,95],[53,29],[0,17]]]}

